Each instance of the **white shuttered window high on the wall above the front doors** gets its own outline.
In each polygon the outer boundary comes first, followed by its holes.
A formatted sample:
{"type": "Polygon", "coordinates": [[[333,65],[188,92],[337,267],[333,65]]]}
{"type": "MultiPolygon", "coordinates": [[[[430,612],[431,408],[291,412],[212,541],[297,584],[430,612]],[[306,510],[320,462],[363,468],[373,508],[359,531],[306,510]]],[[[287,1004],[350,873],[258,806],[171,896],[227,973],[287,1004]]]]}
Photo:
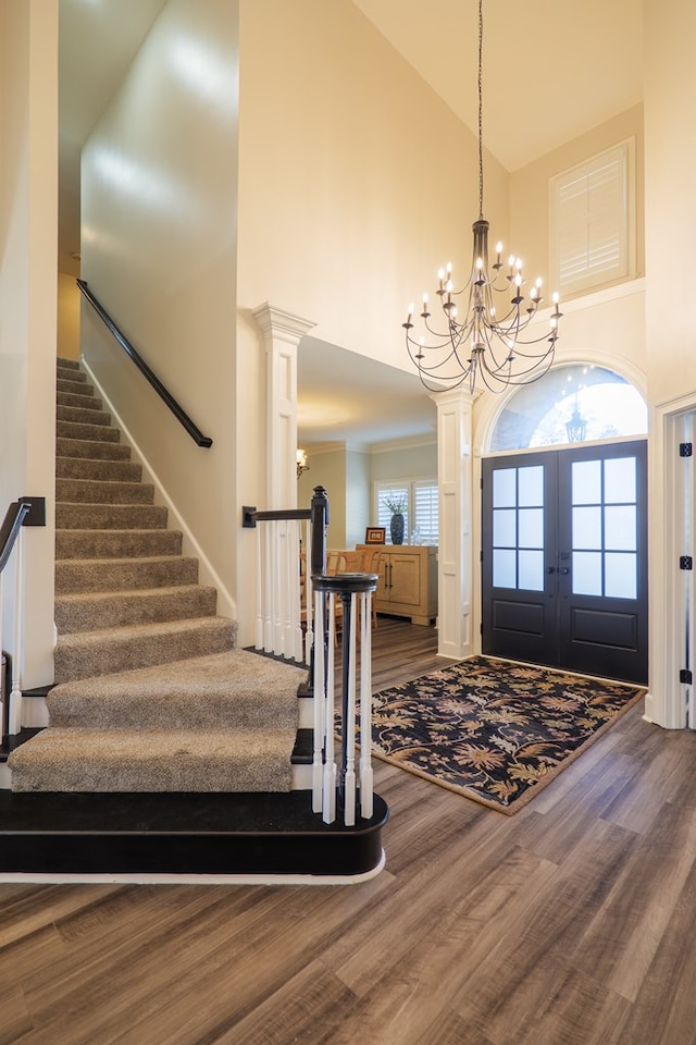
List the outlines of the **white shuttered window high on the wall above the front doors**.
{"type": "Polygon", "coordinates": [[[551,285],[561,297],[635,274],[635,143],[550,182],[551,285]]]}

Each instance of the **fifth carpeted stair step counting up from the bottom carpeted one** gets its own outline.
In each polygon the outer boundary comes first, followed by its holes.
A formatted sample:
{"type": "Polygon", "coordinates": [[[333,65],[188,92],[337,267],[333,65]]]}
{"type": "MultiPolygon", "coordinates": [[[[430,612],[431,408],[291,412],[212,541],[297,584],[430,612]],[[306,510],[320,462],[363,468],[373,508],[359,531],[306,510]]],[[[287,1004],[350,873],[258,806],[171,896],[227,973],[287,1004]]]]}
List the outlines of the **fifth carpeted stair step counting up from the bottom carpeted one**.
{"type": "Polygon", "coordinates": [[[195,585],[198,560],[184,555],[153,558],[65,558],[55,563],[55,594],[123,591],[126,588],[171,588],[195,585]]]}

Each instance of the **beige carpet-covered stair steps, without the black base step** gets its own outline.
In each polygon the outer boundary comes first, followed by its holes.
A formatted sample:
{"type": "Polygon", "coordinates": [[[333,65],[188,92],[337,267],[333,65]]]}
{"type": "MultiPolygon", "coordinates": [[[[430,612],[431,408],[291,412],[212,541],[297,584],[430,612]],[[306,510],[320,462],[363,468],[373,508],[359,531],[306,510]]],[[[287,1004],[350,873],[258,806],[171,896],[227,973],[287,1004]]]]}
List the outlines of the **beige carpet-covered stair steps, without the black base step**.
{"type": "Polygon", "coordinates": [[[303,672],[235,649],[78,364],[59,360],[55,687],[13,791],[287,791],[303,672]]]}

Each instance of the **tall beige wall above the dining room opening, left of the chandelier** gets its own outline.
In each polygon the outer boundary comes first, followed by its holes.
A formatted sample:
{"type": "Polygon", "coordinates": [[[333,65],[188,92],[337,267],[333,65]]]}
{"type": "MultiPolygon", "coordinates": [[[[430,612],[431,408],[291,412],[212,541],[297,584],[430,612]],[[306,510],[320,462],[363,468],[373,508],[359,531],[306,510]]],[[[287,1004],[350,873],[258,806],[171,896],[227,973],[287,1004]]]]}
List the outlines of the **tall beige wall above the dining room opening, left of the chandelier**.
{"type": "MultiPolygon", "coordinates": [[[[347,0],[243,3],[240,44],[240,308],[408,369],[409,302],[471,263],[474,135],[347,0]]],[[[493,160],[486,198],[506,238],[493,160]]]]}

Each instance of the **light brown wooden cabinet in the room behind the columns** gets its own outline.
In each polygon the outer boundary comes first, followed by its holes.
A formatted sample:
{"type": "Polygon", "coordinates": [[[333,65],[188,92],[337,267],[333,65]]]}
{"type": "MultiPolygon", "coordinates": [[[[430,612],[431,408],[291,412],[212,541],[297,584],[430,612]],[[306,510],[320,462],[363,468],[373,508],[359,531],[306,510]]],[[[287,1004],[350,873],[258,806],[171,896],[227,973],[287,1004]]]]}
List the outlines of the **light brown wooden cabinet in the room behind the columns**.
{"type": "Polygon", "coordinates": [[[437,549],[385,544],[374,603],[377,613],[410,617],[412,624],[430,624],[437,616],[437,549]]]}

